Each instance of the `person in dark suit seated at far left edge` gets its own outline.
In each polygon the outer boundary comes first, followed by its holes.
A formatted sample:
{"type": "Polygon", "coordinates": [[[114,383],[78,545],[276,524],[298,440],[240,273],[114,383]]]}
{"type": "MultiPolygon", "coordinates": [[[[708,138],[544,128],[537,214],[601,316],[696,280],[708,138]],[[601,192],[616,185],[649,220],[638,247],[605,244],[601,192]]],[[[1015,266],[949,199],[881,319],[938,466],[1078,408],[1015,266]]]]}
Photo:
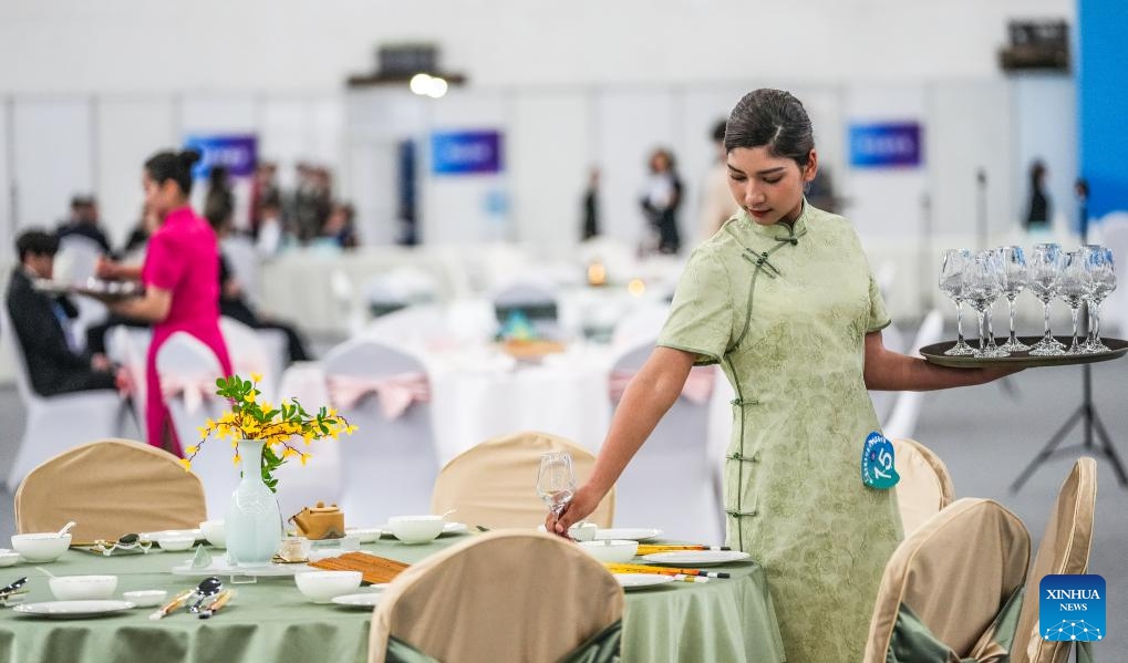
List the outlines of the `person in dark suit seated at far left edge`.
{"type": "Polygon", "coordinates": [[[24,353],[32,388],[41,396],[91,389],[114,389],[115,373],[105,357],[97,360],[70,338],[78,309],[64,295],[35,290],[33,280],[51,279],[59,239],[28,230],[16,239],[19,265],[8,283],[8,315],[24,353]]]}

